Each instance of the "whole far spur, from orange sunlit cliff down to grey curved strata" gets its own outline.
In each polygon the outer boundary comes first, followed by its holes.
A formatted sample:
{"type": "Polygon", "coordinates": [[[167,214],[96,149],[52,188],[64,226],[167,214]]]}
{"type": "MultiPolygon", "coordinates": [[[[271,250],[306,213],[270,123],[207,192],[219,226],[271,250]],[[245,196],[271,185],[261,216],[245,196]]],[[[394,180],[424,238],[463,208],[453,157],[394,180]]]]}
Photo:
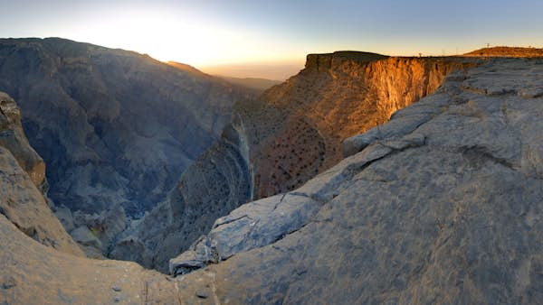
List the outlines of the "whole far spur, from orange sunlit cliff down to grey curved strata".
{"type": "Polygon", "coordinates": [[[234,106],[222,140],[228,144],[205,152],[150,213],[149,219],[171,219],[163,228],[157,231],[150,225],[155,222],[146,220],[129,229],[130,247],[159,254],[147,261],[167,271],[167,254],[186,249],[214,218],[251,199],[299,187],[341,160],[341,141],[386,123],[396,110],[431,94],[447,75],[476,62],[353,51],[309,55],[300,74],[234,106]]]}

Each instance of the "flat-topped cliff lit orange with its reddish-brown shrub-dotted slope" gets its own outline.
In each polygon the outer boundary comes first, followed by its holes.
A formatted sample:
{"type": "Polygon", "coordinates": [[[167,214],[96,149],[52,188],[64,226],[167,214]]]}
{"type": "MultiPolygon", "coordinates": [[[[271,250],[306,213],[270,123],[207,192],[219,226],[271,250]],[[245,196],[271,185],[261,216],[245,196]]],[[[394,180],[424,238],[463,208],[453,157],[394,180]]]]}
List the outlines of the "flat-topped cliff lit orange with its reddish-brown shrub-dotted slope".
{"type": "Polygon", "coordinates": [[[382,125],[398,109],[432,94],[452,71],[472,67],[461,58],[386,58],[372,53],[310,54],[306,69],[262,100],[273,119],[243,106],[251,134],[253,197],[294,189],[342,158],[341,142],[382,125]],[[260,124],[267,122],[270,126],[260,124]]]}

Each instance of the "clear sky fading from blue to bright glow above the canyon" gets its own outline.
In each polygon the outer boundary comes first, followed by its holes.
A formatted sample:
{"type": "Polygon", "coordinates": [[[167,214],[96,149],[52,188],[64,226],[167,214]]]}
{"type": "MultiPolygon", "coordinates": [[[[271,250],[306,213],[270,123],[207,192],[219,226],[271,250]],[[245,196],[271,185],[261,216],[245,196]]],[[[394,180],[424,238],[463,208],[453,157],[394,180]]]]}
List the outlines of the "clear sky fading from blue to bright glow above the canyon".
{"type": "Polygon", "coordinates": [[[237,77],[285,79],[308,53],[543,47],[541,0],[0,0],[0,11],[0,37],[62,37],[237,77]]]}

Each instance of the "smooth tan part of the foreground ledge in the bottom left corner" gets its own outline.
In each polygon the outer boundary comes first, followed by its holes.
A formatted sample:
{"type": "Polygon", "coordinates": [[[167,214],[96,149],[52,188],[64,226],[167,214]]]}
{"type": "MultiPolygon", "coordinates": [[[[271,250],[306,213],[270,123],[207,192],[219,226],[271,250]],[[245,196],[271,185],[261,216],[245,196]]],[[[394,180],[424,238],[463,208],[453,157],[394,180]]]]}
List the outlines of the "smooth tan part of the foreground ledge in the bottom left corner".
{"type": "Polygon", "coordinates": [[[185,303],[164,274],[55,251],[24,236],[3,215],[0,243],[0,301],[6,304],[185,303]]]}

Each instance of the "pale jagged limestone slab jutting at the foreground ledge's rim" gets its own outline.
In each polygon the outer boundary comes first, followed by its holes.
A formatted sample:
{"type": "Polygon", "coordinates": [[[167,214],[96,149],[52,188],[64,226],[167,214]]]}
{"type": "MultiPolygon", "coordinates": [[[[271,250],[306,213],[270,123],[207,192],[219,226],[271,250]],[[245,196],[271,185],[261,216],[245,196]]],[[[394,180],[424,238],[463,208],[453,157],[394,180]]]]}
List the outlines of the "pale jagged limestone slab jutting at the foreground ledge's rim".
{"type": "Polygon", "coordinates": [[[298,194],[276,195],[236,208],[218,218],[193,249],[170,260],[170,273],[183,274],[234,254],[270,245],[307,225],[321,204],[298,194]]]}

